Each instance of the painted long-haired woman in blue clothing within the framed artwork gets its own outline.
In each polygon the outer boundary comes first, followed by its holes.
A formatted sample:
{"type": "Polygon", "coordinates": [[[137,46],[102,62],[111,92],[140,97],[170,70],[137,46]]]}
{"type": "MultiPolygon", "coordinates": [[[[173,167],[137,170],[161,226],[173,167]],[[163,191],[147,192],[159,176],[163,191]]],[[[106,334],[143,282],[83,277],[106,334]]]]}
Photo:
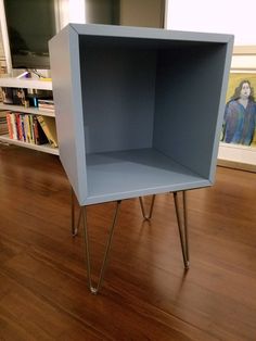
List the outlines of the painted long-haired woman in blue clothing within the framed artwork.
{"type": "Polygon", "coordinates": [[[254,88],[249,80],[242,80],[226,104],[223,137],[227,143],[249,146],[253,141],[256,122],[254,88]]]}

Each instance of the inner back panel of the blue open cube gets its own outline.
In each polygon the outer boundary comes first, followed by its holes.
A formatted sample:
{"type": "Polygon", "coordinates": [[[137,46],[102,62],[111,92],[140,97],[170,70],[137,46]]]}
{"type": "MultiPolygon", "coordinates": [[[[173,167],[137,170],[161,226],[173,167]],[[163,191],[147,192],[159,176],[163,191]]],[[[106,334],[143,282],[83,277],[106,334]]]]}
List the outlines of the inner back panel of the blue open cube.
{"type": "Polygon", "coordinates": [[[152,147],[156,51],[80,48],[87,153],[152,147]]]}

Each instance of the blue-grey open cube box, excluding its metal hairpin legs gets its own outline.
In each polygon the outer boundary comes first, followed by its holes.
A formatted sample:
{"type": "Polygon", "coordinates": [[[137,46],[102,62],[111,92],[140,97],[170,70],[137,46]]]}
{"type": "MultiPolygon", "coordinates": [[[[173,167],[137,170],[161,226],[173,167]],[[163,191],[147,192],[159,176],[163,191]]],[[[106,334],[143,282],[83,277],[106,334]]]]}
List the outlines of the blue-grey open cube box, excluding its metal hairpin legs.
{"type": "Polygon", "coordinates": [[[79,24],[50,41],[60,157],[80,205],[213,182],[232,41],[79,24]]]}

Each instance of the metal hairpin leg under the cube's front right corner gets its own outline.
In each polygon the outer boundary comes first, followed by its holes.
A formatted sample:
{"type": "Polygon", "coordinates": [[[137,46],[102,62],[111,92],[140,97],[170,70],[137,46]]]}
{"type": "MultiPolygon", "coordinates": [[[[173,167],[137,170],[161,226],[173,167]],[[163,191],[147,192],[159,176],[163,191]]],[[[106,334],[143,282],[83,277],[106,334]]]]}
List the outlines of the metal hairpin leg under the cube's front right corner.
{"type": "Polygon", "coordinates": [[[180,244],[182,250],[182,256],[184,262],[184,268],[189,269],[190,267],[190,256],[189,256],[189,235],[188,235],[188,220],[187,220],[187,200],[185,200],[185,191],[182,191],[182,205],[183,205],[183,228],[182,228],[182,218],[178,202],[178,193],[174,192],[174,200],[175,200],[175,210],[176,216],[179,227],[179,235],[180,235],[180,244]],[[183,231],[182,231],[183,230],[183,231]]]}

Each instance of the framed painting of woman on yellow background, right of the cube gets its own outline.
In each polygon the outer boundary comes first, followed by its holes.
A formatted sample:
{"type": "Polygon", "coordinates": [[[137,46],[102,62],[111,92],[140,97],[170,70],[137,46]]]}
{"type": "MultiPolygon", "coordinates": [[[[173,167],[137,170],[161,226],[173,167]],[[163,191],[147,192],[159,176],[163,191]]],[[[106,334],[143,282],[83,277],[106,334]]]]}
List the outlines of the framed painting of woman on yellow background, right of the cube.
{"type": "Polygon", "coordinates": [[[256,172],[256,46],[234,47],[220,140],[218,165],[256,172]]]}

